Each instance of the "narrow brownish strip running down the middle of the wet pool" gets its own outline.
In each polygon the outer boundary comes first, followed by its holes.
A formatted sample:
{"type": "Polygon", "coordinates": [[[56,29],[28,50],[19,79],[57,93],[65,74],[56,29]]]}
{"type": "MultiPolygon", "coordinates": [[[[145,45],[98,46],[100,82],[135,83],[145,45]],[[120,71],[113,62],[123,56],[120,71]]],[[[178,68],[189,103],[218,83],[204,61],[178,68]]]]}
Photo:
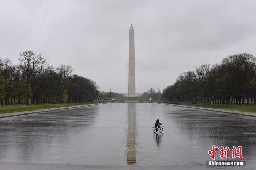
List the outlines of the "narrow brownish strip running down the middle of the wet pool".
{"type": "Polygon", "coordinates": [[[133,127],[133,104],[131,113],[129,115],[129,142],[127,152],[127,163],[136,163],[135,160],[135,140],[134,140],[134,127],[133,127]]]}

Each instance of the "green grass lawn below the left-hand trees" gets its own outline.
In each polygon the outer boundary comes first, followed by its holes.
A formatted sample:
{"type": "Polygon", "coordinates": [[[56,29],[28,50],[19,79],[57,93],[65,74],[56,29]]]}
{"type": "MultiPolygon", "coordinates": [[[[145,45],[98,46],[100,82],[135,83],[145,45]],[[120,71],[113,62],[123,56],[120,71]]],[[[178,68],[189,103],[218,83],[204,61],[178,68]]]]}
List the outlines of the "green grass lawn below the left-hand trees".
{"type": "Polygon", "coordinates": [[[66,106],[76,106],[83,104],[95,104],[99,102],[84,102],[84,103],[58,103],[58,104],[37,104],[37,105],[7,105],[0,106],[0,114],[2,113],[11,113],[11,112],[22,112],[22,111],[33,111],[39,109],[49,109],[57,107],[66,107],[66,106]]]}

